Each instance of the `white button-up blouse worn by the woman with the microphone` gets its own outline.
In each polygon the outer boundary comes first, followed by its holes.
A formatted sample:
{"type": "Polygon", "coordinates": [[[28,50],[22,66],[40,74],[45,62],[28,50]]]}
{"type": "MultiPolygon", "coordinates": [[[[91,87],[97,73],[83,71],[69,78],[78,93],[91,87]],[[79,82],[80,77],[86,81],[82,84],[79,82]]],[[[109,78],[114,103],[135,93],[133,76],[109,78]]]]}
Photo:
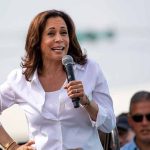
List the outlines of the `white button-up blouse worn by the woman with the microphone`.
{"type": "Polygon", "coordinates": [[[84,66],[75,64],[74,73],[83,82],[86,95],[98,104],[96,121],[82,106],[73,107],[63,86],[46,93],[37,71],[28,82],[22,70],[16,69],[0,86],[0,112],[13,104],[24,110],[29,138],[35,140],[37,150],[102,150],[97,129],[110,132],[115,127],[112,99],[99,64],[88,59],[84,66]]]}

